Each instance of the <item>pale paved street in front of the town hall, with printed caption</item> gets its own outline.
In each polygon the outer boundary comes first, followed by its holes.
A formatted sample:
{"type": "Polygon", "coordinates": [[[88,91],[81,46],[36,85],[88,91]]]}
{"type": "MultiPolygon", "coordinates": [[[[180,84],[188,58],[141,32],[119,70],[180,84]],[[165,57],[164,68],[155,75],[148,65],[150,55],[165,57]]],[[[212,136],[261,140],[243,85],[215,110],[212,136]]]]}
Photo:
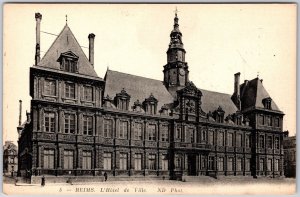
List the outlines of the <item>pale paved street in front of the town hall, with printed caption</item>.
{"type": "Polygon", "coordinates": [[[197,182],[169,180],[108,181],[98,183],[14,184],[4,178],[6,194],[294,194],[295,179],[202,179],[197,182]]]}

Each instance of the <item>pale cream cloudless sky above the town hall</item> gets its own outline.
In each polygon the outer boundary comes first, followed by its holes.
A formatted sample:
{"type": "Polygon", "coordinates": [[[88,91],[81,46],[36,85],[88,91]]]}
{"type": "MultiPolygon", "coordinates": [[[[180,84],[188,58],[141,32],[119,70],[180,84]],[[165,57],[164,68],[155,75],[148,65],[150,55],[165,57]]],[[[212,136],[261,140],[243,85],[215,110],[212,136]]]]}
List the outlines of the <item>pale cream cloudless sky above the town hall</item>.
{"type": "MultiPolygon", "coordinates": [[[[30,110],[29,68],[34,64],[36,12],[41,31],[59,34],[67,23],[94,67],[163,80],[177,7],[190,80],[201,89],[232,94],[259,76],[279,109],[284,130],[296,133],[296,5],[291,4],[5,4],[3,15],[3,142],[17,142],[30,110]]],[[[41,33],[41,56],[56,36],[41,33]]]]}

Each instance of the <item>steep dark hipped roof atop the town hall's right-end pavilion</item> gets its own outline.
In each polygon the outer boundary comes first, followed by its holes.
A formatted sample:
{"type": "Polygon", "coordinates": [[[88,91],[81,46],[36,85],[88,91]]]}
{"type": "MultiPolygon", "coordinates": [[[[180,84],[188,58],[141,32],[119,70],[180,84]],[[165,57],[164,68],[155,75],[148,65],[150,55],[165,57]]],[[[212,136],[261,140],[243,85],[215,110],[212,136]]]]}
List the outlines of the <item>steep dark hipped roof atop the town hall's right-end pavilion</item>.
{"type": "MultiPolygon", "coordinates": [[[[270,97],[259,78],[244,82],[240,86],[242,110],[249,108],[264,108],[262,100],[270,97]]],[[[271,108],[280,111],[276,103],[271,101],[271,108]]]]}

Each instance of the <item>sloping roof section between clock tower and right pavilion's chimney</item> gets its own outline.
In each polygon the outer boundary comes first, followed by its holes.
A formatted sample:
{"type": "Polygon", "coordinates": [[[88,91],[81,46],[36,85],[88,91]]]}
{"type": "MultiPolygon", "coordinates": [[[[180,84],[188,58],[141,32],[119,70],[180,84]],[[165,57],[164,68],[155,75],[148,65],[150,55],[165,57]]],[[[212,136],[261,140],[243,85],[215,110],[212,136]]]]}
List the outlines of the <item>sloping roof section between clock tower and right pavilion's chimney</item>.
{"type": "Polygon", "coordinates": [[[231,100],[231,95],[203,89],[200,89],[200,91],[202,92],[201,108],[205,113],[208,113],[209,111],[213,112],[220,106],[225,111],[224,116],[226,117],[238,110],[231,100]]]}

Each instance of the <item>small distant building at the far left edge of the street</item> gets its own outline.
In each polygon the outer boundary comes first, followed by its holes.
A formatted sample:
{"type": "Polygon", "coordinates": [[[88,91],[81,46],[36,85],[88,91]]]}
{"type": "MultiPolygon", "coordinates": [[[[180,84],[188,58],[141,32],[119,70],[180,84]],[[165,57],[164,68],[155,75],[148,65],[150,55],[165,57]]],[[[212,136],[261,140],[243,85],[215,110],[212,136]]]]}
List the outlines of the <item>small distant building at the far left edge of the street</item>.
{"type": "Polygon", "coordinates": [[[3,173],[8,176],[17,175],[18,148],[12,141],[5,141],[3,146],[3,173]]]}

